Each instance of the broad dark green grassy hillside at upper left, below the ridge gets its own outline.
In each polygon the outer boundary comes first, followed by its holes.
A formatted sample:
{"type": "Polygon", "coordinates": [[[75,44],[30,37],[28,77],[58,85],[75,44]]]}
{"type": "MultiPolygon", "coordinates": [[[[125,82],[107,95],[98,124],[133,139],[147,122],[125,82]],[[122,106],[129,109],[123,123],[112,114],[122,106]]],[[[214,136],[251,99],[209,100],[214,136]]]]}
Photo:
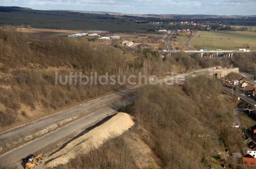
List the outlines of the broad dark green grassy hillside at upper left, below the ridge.
{"type": "MultiPolygon", "coordinates": [[[[78,13],[69,11],[19,9],[1,12],[0,25],[31,25],[34,28],[68,30],[107,30],[110,32],[146,32],[160,29],[162,24],[134,23],[140,18],[78,13]]],[[[165,25],[165,28],[175,25],[165,25]]],[[[170,29],[170,28],[169,28],[170,29]]]]}

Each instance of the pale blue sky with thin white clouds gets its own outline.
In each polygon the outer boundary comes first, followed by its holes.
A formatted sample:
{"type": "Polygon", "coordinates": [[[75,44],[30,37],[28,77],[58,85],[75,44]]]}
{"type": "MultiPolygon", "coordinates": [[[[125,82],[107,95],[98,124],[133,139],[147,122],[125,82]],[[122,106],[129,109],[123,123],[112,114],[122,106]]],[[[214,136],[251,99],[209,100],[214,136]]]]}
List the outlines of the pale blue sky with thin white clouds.
{"type": "Polygon", "coordinates": [[[0,6],[137,14],[256,15],[256,0],[0,0],[0,6]]]}

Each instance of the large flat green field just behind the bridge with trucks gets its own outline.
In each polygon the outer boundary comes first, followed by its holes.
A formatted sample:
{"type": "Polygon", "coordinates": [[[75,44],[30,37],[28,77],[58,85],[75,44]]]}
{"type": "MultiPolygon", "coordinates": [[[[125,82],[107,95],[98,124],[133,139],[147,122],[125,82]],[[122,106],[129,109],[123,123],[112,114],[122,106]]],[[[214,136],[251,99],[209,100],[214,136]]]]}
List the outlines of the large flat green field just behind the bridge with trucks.
{"type": "Polygon", "coordinates": [[[256,33],[199,31],[190,45],[196,49],[209,50],[238,50],[249,45],[248,49],[256,50],[256,33]]]}

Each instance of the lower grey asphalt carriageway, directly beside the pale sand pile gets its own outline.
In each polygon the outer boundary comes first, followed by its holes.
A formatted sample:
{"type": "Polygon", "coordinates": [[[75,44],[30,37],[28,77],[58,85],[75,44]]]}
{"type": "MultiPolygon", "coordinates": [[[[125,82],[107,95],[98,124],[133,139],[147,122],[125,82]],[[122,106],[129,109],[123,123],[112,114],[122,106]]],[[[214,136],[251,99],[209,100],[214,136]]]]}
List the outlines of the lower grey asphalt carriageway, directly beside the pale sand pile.
{"type": "Polygon", "coordinates": [[[111,114],[118,110],[121,105],[125,103],[125,105],[131,104],[138,95],[133,95],[129,98],[126,98],[125,100],[118,102],[110,107],[104,108],[102,110],[99,110],[95,112],[94,114],[84,117],[78,121],[75,121],[73,123],[70,123],[54,132],[51,132],[43,137],[40,137],[39,139],[36,139],[28,144],[26,144],[23,147],[20,147],[8,154],[5,154],[4,156],[0,157],[1,163],[8,163],[8,164],[14,164],[17,161],[21,160],[22,158],[27,157],[29,154],[34,154],[34,152],[48,146],[51,143],[54,143],[55,141],[72,134],[74,132],[77,132],[78,130],[81,130],[84,126],[87,126],[93,122],[98,121],[99,119],[103,119],[107,114],[111,114]]]}

